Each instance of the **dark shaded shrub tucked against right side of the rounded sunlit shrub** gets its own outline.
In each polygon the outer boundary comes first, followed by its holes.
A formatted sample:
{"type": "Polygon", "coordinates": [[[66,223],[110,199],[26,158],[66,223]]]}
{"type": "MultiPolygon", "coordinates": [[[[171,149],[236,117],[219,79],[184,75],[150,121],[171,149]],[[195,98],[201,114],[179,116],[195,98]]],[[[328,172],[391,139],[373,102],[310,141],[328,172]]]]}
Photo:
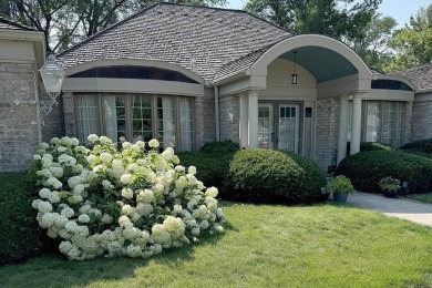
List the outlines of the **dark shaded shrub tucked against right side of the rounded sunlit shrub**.
{"type": "Polygon", "coordinates": [[[305,202],[318,202],[327,198],[321,194],[321,188],[326,187],[327,179],[318,164],[307,157],[287,153],[305,172],[305,178],[301,182],[299,192],[302,193],[305,202]]]}

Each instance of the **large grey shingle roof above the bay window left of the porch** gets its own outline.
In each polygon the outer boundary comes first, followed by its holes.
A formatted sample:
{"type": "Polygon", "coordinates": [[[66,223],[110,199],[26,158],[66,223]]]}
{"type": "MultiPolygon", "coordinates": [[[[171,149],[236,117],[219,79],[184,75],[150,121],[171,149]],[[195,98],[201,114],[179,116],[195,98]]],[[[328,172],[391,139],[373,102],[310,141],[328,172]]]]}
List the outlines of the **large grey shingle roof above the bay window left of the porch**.
{"type": "MultiPolygon", "coordinates": [[[[160,60],[212,80],[228,63],[250,65],[257,51],[292,34],[245,11],[154,4],[59,55],[66,68],[100,59],[160,60]],[[243,60],[241,60],[243,59],[243,60]],[[234,63],[239,60],[239,63],[234,63]]],[[[254,60],[255,59],[255,60],[254,60]]]]}

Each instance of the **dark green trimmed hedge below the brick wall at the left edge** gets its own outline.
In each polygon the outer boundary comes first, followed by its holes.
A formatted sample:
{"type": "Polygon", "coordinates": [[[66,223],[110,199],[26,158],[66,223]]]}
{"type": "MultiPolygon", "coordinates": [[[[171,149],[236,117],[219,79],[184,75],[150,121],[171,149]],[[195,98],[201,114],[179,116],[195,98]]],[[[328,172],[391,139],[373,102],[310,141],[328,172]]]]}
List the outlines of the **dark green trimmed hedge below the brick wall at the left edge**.
{"type": "Polygon", "coordinates": [[[25,174],[0,174],[0,265],[22,263],[41,251],[25,174]]]}

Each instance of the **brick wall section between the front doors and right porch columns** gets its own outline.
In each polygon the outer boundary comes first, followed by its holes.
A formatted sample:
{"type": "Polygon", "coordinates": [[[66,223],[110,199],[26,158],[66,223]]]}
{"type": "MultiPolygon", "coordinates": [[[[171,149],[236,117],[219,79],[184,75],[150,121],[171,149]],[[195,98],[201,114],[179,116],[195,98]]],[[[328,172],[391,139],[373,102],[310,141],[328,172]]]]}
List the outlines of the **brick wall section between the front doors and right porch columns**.
{"type": "Polygon", "coordinates": [[[315,161],[327,171],[336,165],[339,136],[339,97],[317,100],[315,161]]]}

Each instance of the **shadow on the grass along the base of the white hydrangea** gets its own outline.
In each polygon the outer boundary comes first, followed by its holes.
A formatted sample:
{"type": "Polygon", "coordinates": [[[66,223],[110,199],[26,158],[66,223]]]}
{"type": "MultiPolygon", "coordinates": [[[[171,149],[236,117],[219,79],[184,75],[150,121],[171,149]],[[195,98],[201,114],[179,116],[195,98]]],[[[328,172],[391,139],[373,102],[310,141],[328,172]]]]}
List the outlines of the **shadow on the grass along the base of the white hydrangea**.
{"type": "MultiPolygon", "coordinates": [[[[232,225],[225,226],[227,230],[232,225]]],[[[60,255],[39,257],[22,265],[0,267],[0,287],[66,287],[86,286],[95,281],[116,281],[135,276],[135,269],[154,261],[169,268],[195,259],[194,251],[199,246],[213,246],[224,234],[203,236],[198,244],[164,250],[161,255],[143,258],[96,258],[84,261],[70,261],[60,255]]]]}

